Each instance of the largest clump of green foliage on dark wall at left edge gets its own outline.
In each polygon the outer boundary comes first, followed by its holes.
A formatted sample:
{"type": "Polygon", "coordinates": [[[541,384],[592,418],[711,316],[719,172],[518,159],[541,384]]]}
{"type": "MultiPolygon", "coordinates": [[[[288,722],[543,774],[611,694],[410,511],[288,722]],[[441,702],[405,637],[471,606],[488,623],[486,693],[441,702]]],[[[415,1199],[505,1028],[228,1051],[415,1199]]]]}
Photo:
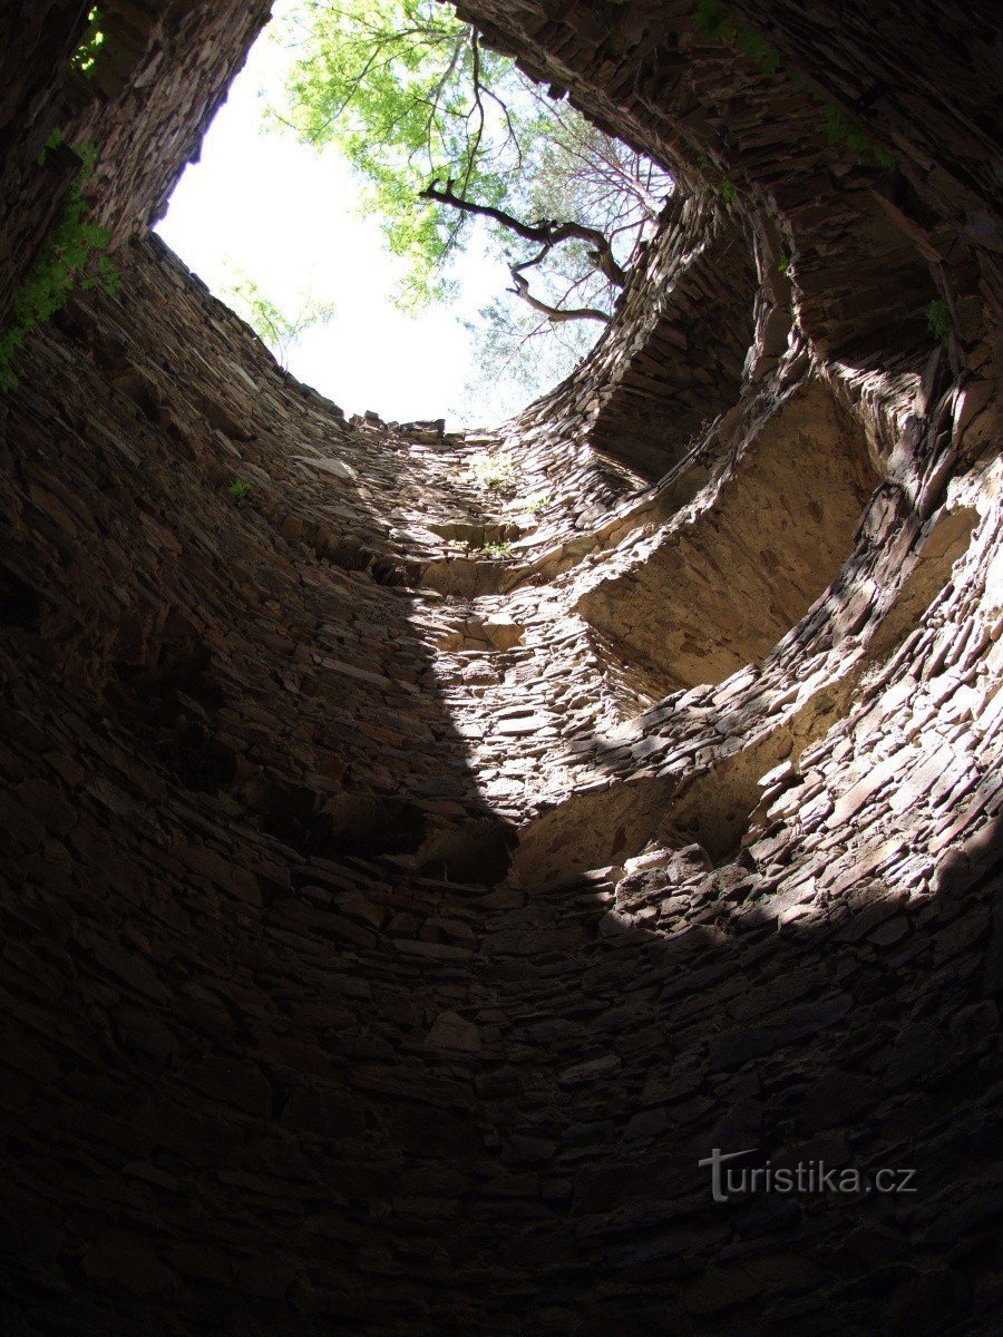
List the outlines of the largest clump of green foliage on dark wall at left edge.
{"type": "MultiPolygon", "coordinates": [[[[62,143],[63,136],[53,131],[39,164],[44,166],[47,152],[62,143]]],[[[0,334],[0,390],[12,390],[17,385],[17,377],[11,370],[15,354],[28,333],[55,314],[74,287],[87,291],[100,286],[114,293],[122,285],[118,270],[102,254],[110,233],[88,218],[82,195],[83,183],[94,171],[96,148],[79,144],[74,152],[80,159],[80,170],[67,187],[62,213],[41,243],[37,259],[13,295],[11,318],[0,334]]]]}

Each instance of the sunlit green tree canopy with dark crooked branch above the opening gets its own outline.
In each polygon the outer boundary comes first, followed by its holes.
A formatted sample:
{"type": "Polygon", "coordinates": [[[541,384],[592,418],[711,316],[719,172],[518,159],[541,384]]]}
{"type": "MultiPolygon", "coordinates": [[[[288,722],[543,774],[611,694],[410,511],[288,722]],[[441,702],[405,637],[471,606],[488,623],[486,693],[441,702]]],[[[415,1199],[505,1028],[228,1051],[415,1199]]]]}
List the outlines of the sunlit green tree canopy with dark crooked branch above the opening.
{"type": "MultiPolygon", "coordinates": [[[[447,295],[451,259],[487,235],[511,275],[475,322],[488,374],[544,332],[558,345],[548,370],[562,353],[580,356],[671,178],[547,96],[436,0],[300,0],[281,40],[293,60],[269,119],[336,147],[362,176],[407,262],[401,305],[447,295]]],[[[534,356],[523,378],[539,380],[540,366],[534,356]]]]}

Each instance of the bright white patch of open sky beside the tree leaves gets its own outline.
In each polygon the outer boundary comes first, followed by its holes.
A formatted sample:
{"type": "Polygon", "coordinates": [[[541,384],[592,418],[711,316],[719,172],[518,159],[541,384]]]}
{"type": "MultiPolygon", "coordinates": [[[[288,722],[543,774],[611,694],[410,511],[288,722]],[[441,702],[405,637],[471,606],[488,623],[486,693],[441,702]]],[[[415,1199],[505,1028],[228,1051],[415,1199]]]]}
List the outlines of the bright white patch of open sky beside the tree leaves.
{"type": "MultiPolygon", "coordinates": [[[[280,0],[275,12],[289,7],[280,0]]],[[[332,302],[334,320],[308,330],[289,369],[348,413],[385,420],[445,417],[489,425],[516,412],[526,392],[497,386],[471,405],[471,318],[508,282],[500,263],[467,255],[452,308],[419,317],[391,302],[399,262],[373,218],[360,217],[358,187],[336,152],[318,156],[292,136],[261,131],[259,90],[278,88],[285,55],[265,31],[206,135],[202,159],[182,176],[156,231],[218,295],[234,269],[293,314],[300,294],[332,302]]]]}

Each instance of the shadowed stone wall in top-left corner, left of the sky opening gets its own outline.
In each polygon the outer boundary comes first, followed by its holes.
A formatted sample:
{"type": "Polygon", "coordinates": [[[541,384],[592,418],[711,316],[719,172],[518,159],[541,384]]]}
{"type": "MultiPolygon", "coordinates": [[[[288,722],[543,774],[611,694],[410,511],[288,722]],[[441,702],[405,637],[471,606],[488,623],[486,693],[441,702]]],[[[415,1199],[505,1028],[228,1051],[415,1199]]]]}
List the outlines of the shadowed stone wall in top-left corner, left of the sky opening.
{"type": "Polygon", "coordinates": [[[269,17],[269,0],[197,7],[107,0],[103,41],[84,76],[71,56],[90,5],[9,9],[0,53],[0,324],[29,271],[80,162],[40,152],[52,131],[96,151],[87,194],[115,246],[162,217],[185,166],[269,17]]]}

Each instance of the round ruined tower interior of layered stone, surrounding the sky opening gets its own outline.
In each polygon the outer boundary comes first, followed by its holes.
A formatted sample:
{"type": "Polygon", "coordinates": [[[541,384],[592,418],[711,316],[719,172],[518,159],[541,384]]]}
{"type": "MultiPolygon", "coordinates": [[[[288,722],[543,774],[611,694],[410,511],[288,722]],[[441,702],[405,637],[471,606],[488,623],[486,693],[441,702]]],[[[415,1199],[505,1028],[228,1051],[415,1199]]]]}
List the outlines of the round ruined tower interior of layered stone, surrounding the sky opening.
{"type": "Polygon", "coordinates": [[[467,435],[148,231],[267,8],[3,19],[4,1332],[998,1332],[990,7],[464,0],[679,183],[467,435]]]}

